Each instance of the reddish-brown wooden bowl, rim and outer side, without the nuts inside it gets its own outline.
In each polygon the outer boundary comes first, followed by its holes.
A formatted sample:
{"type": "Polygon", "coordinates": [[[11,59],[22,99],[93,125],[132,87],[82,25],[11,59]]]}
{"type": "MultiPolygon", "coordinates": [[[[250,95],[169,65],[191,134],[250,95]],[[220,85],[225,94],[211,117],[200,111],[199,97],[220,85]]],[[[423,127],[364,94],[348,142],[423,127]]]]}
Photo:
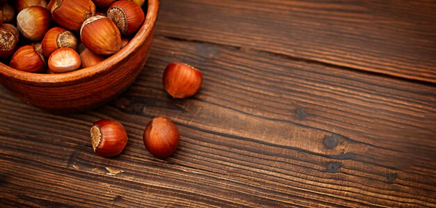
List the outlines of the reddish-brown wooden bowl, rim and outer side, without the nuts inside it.
{"type": "Polygon", "coordinates": [[[141,72],[158,12],[159,0],[148,0],[146,20],[137,35],[98,65],[65,74],[33,74],[0,63],[0,83],[22,101],[46,111],[70,113],[104,104],[123,93],[141,72]]]}

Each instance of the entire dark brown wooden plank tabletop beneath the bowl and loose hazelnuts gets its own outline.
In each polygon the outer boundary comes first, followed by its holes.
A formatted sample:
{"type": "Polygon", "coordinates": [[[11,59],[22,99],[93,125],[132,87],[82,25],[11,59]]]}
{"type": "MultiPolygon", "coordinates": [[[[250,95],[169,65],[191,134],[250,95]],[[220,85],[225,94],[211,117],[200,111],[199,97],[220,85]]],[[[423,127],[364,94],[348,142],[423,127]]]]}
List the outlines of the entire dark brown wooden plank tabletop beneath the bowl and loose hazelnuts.
{"type": "Polygon", "coordinates": [[[162,0],[122,96],[54,115],[0,88],[0,207],[436,207],[436,3],[162,0]],[[190,99],[167,63],[202,70],[190,99]],[[180,131],[152,157],[146,123],[180,131]],[[109,118],[130,138],[93,153],[109,118]]]}

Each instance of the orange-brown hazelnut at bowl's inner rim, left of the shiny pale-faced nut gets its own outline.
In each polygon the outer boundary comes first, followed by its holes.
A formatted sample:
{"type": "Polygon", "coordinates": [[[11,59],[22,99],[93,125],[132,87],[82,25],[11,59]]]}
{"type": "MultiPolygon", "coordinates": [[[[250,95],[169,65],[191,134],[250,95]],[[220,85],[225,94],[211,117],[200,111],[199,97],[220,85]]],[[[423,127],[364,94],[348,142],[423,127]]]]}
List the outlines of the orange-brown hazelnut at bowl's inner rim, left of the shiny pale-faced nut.
{"type": "Polygon", "coordinates": [[[45,58],[35,47],[25,45],[15,51],[9,65],[24,72],[40,73],[45,70],[45,58]]]}

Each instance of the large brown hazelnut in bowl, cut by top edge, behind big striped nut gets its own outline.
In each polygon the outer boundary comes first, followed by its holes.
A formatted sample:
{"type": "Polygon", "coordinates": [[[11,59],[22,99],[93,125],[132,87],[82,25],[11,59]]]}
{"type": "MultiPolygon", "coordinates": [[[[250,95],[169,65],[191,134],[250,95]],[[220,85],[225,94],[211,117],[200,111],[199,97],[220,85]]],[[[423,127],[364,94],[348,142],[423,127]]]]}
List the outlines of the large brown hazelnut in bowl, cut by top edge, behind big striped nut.
{"type": "Polygon", "coordinates": [[[54,22],[73,31],[79,31],[81,24],[95,14],[91,0],[52,0],[49,8],[54,22]]]}

